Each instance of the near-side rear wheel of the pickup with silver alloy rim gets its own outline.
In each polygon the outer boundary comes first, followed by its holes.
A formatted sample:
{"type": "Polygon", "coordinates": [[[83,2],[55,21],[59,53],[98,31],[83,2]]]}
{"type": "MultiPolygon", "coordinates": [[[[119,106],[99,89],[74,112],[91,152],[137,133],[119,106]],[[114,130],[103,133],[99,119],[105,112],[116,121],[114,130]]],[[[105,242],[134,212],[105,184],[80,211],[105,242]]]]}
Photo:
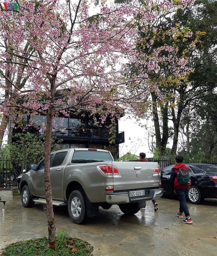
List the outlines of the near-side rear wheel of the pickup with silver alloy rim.
{"type": "Polygon", "coordinates": [[[82,224],[86,221],[85,197],[81,189],[72,191],[68,198],[68,214],[76,224],[82,224]]]}

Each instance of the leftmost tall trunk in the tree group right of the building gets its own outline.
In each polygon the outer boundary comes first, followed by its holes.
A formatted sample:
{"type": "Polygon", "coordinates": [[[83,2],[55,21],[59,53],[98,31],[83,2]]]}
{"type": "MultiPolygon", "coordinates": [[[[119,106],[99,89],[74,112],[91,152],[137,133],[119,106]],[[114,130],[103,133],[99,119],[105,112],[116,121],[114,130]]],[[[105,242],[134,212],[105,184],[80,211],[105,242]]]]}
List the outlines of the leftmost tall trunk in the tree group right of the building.
{"type": "Polygon", "coordinates": [[[153,114],[155,137],[156,137],[156,147],[158,148],[159,154],[161,155],[160,124],[159,124],[158,109],[157,109],[157,96],[155,92],[151,92],[151,98],[152,98],[152,114],[153,114]]]}

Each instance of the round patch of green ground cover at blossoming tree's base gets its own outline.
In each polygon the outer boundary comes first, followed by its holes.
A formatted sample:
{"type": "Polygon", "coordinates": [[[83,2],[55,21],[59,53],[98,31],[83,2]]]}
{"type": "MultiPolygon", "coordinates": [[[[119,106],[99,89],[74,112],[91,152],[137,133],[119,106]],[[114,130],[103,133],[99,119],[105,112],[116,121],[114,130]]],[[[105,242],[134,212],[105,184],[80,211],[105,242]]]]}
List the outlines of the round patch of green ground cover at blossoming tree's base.
{"type": "Polygon", "coordinates": [[[70,238],[61,232],[57,236],[57,250],[49,248],[47,237],[23,239],[9,244],[0,256],[86,256],[93,255],[93,246],[78,238],[70,238]]]}

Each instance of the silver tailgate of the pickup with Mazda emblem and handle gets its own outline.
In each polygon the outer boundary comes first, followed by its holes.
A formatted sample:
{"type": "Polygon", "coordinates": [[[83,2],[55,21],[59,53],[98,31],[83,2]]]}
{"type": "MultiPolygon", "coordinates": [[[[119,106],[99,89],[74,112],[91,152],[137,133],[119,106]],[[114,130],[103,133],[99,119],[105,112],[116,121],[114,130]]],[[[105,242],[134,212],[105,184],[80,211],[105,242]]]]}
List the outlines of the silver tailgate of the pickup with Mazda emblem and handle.
{"type": "Polygon", "coordinates": [[[122,178],[113,178],[114,191],[135,188],[159,187],[160,176],[153,172],[157,162],[112,162],[122,178]]]}

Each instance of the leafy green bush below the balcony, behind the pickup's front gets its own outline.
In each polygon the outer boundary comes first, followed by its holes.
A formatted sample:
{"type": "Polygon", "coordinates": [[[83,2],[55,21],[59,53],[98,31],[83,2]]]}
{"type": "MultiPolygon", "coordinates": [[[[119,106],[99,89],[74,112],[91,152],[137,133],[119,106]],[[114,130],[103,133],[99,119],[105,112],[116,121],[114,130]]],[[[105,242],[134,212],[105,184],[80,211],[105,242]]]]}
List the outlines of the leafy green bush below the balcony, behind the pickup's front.
{"type": "MultiPolygon", "coordinates": [[[[17,133],[13,136],[16,142],[5,145],[1,151],[3,158],[10,159],[14,165],[25,168],[25,164],[29,166],[31,163],[38,163],[44,157],[44,135],[17,133]]],[[[56,141],[56,137],[52,137],[51,147],[58,142],[60,141],[56,141]]]]}

